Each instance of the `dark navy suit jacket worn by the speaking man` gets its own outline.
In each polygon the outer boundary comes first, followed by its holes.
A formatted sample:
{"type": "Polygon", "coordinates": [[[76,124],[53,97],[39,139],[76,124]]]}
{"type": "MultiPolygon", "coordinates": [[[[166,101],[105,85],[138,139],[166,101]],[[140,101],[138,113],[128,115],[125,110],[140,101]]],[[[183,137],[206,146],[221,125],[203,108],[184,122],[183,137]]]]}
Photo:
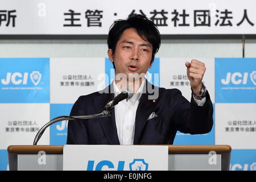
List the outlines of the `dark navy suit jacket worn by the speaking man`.
{"type": "MultiPolygon", "coordinates": [[[[136,112],[134,144],[172,144],[177,130],[189,134],[205,134],[212,130],[213,106],[209,93],[204,106],[197,106],[193,98],[189,102],[178,89],[155,87],[159,89],[159,97],[153,102],[148,100],[150,86],[154,88],[146,81],[136,112]],[[147,120],[153,111],[158,117],[147,120]]],[[[80,96],[70,115],[102,111],[106,103],[114,98],[113,84],[104,92],[80,96]]],[[[114,109],[108,118],[69,121],[67,144],[119,144],[114,109]]]]}

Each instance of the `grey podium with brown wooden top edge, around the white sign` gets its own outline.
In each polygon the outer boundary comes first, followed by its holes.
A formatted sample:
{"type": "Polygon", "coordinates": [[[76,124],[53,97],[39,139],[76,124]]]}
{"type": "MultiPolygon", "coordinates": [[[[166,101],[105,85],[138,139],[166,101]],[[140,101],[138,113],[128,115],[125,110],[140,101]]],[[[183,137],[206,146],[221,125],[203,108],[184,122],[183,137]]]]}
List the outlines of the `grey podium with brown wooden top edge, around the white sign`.
{"type": "MultiPolygon", "coordinates": [[[[150,145],[168,146],[169,171],[228,171],[232,148],[228,145],[150,145]],[[213,157],[217,163],[212,163],[213,157]]],[[[61,171],[63,145],[13,145],[7,148],[10,171],[61,171]],[[39,165],[40,151],[45,152],[46,164],[39,165]]]]}

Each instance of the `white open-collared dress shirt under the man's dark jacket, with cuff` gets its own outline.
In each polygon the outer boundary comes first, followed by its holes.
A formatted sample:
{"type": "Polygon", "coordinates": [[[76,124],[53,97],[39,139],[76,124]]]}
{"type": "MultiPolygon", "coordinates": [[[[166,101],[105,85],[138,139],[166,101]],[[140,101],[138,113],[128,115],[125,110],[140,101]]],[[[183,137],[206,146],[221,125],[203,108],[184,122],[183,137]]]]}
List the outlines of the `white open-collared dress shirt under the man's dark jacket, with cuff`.
{"type": "MultiPolygon", "coordinates": [[[[145,79],[142,81],[138,92],[133,95],[129,100],[123,100],[115,105],[115,125],[117,126],[117,135],[120,144],[133,144],[134,130],[135,130],[135,117],[136,111],[141,100],[145,79]]],[[[115,81],[113,81],[114,96],[117,96],[121,91],[119,90],[115,81]]],[[[206,98],[197,100],[193,96],[198,106],[203,106],[206,98]]]]}

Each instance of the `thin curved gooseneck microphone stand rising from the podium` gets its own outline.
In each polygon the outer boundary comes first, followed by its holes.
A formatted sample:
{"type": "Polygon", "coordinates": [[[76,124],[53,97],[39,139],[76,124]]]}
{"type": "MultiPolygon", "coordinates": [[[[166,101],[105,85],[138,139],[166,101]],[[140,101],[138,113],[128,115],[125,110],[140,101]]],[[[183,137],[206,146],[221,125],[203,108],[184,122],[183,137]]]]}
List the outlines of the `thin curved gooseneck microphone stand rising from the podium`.
{"type": "Polygon", "coordinates": [[[65,121],[65,120],[75,120],[75,119],[92,119],[92,118],[101,118],[101,117],[109,117],[110,116],[110,109],[113,107],[110,107],[109,109],[103,110],[101,113],[98,114],[92,114],[92,115],[81,115],[81,116],[67,116],[63,115],[60,117],[53,118],[51,121],[46,123],[36,134],[33,145],[36,145],[39,141],[39,139],[42,137],[44,131],[47,129],[48,126],[51,126],[52,124],[59,122],[59,121],[65,121]]]}

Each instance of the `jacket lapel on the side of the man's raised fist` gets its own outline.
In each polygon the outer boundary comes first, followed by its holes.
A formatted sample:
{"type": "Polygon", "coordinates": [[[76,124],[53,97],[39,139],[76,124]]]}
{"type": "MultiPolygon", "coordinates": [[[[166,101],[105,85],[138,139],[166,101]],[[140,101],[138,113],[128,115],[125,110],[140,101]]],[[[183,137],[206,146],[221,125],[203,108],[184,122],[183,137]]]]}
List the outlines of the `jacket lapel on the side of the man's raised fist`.
{"type": "Polygon", "coordinates": [[[133,142],[134,144],[139,144],[141,132],[144,125],[147,122],[147,118],[150,116],[150,114],[155,110],[156,106],[158,105],[157,99],[156,100],[148,99],[148,96],[150,96],[150,94],[148,93],[148,88],[154,88],[154,85],[150,84],[150,82],[146,80],[146,84],[144,85],[144,88],[143,88],[143,94],[141,96],[141,101],[139,101],[139,105],[136,111],[134,142],[133,142]]]}

